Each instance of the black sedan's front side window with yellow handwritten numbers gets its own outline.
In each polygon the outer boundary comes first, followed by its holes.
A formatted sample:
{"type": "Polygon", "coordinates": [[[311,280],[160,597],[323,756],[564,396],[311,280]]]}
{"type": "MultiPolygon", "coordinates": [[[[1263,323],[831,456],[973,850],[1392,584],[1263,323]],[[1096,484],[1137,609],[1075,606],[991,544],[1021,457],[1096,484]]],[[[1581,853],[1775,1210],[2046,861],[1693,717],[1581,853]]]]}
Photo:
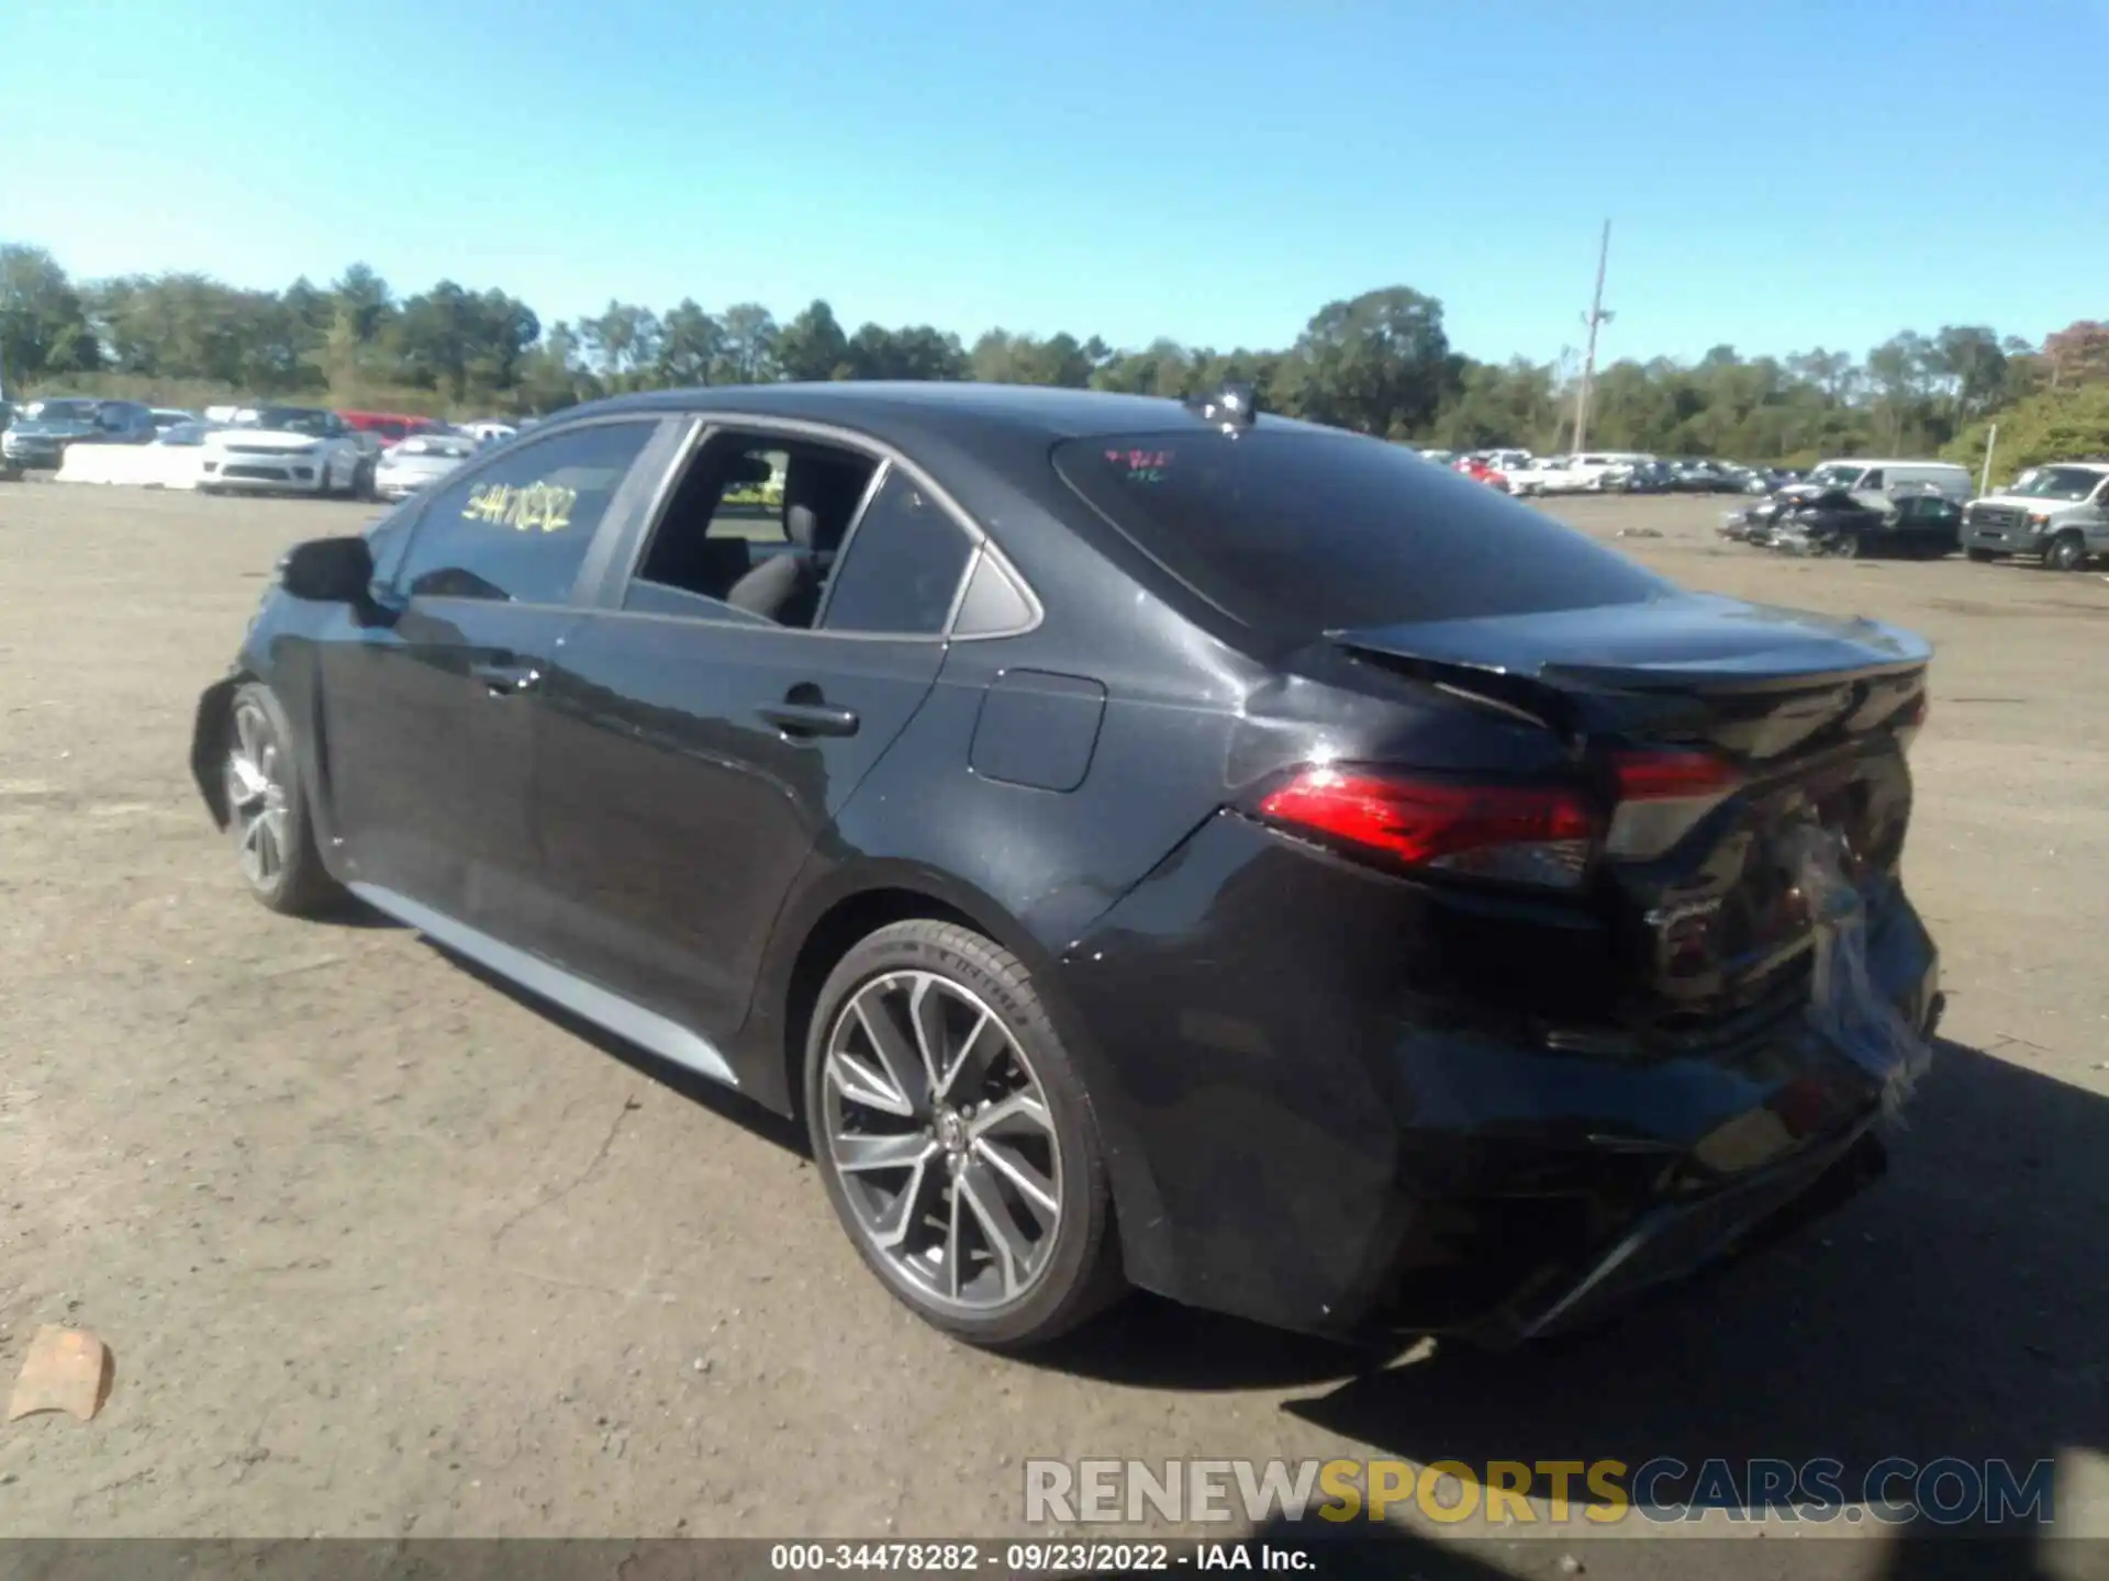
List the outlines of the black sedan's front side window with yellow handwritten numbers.
{"type": "Polygon", "coordinates": [[[399,586],[430,599],[563,603],[654,424],[550,434],[432,493],[399,586]]]}

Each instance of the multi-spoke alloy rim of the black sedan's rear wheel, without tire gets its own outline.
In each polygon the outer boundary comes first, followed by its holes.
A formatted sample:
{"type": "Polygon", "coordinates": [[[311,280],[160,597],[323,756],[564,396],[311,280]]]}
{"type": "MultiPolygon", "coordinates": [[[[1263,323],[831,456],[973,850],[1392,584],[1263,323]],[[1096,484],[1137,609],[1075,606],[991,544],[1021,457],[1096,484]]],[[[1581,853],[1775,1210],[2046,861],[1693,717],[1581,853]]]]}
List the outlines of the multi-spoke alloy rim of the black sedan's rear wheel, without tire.
{"type": "Polygon", "coordinates": [[[1046,1271],[1063,1157],[1002,1016],[934,972],[865,982],[829,1029],[827,1164],[867,1246],[924,1301],[1014,1303],[1046,1271]]]}

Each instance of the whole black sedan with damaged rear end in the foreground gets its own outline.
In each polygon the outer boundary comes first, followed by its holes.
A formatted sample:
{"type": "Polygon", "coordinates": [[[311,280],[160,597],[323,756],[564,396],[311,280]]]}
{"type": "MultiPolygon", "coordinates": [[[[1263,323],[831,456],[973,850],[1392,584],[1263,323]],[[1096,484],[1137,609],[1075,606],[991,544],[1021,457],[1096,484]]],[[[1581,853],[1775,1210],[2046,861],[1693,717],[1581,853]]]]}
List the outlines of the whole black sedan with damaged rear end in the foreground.
{"type": "Polygon", "coordinates": [[[799,1115],[949,1332],[1512,1341],[1873,1174],[1928,660],[1244,390],[717,388],[295,546],[192,769],[264,904],[799,1115]]]}

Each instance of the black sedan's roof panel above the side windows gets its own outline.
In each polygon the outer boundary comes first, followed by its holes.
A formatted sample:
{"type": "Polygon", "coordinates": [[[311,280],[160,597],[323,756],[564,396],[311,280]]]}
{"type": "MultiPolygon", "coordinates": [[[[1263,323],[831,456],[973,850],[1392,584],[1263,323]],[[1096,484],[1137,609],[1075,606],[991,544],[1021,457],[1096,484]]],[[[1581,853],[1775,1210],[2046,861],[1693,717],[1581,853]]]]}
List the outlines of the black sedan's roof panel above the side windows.
{"type": "MultiPolygon", "coordinates": [[[[1036,384],[955,384],[844,379],[839,384],[728,384],[690,390],[652,390],[572,407],[563,417],[616,415],[622,411],[732,411],[755,417],[804,417],[808,422],[884,424],[890,430],[930,434],[1002,426],[1048,436],[1147,432],[1164,428],[1208,428],[1211,424],[1166,396],[1109,394],[1036,384]]],[[[1341,432],[1318,424],[1261,413],[1270,428],[1341,432]]]]}

